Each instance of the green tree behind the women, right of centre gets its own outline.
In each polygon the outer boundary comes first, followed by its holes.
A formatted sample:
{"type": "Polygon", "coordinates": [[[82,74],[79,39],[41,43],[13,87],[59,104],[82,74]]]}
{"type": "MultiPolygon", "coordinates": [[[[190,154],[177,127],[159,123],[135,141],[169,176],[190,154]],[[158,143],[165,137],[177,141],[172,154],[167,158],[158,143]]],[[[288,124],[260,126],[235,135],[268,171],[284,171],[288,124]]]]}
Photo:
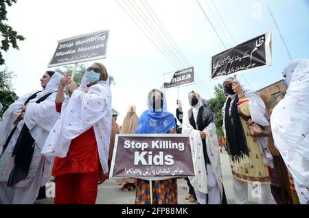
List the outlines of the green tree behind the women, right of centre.
{"type": "Polygon", "coordinates": [[[215,97],[207,100],[207,104],[209,108],[211,109],[211,111],[214,113],[214,117],[216,119],[217,134],[222,137],[223,136],[222,107],[225,104],[226,97],[223,93],[223,88],[221,84],[217,84],[214,87],[214,94],[215,94],[215,97]]]}

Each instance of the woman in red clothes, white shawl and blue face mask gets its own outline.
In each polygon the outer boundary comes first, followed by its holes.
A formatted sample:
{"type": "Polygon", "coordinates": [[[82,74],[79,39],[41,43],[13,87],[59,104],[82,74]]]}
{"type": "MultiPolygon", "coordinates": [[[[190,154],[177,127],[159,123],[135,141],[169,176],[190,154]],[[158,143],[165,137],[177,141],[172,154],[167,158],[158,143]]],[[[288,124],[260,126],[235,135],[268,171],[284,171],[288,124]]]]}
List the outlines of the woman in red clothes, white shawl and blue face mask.
{"type": "MultiPolygon", "coordinates": [[[[42,154],[56,156],[55,204],[95,204],[98,178],[108,173],[111,136],[111,90],[103,64],[92,64],[80,88],[62,77],[56,97],[60,118],[52,128],[42,154]],[[63,97],[63,89],[71,97],[63,97]],[[62,106],[61,106],[62,105],[62,106]]],[[[102,181],[101,181],[102,182],[102,181]]]]}

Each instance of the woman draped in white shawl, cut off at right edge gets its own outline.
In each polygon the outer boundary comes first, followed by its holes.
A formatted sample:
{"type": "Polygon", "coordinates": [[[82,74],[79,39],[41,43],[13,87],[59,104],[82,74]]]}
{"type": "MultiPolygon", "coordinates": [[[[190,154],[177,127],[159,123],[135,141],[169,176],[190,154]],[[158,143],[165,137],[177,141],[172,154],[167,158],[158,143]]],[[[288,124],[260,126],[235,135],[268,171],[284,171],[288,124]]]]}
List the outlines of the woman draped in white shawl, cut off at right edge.
{"type": "Polygon", "coordinates": [[[273,109],[271,129],[299,202],[309,204],[309,60],[290,62],[282,74],[288,90],[273,109]]]}

